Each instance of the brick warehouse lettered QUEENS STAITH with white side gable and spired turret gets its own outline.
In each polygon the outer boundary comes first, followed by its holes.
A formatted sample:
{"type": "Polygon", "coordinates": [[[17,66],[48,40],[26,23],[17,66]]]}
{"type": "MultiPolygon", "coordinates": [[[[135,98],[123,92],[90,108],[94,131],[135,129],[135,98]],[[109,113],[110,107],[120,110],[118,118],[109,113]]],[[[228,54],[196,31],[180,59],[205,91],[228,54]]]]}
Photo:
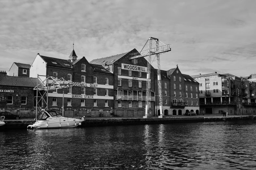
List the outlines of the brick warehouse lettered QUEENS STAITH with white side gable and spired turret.
{"type": "Polygon", "coordinates": [[[62,77],[73,83],[72,87],[50,90],[48,108],[61,112],[64,92],[65,116],[98,117],[113,113],[113,74],[101,65],[89,64],[85,57],[77,60],[74,49],[68,60],[38,53],[30,76],[36,78],[37,74],[62,77]]]}

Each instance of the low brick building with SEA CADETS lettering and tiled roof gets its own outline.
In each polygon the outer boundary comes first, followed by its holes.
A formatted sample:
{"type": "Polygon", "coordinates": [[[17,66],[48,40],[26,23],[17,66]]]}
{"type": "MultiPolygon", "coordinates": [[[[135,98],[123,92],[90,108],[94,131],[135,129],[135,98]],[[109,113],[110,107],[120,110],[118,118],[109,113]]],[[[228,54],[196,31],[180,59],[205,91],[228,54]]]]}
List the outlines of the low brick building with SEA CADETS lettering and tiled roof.
{"type": "Polygon", "coordinates": [[[37,78],[0,75],[0,112],[7,111],[21,115],[22,118],[34,118],[34,90],[37,78]]]}

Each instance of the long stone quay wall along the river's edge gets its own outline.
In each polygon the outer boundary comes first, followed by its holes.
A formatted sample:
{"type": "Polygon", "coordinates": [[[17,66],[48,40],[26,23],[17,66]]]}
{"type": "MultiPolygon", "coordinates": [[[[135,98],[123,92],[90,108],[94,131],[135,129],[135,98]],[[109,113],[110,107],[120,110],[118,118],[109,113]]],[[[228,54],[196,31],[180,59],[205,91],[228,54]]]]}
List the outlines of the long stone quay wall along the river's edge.
{"type": "MultiPolygon", "coordinates": [[[[232,121],[232,120],[256,120],[254,115],[230,115],[221,117],[219,115],[198,115],[198,116],[168,116],[165,118],[124,118],[124,117],[99,117],[85,118],[81,126],[104,126],[104,125],[128,125],[128,124],[158,124],[158,123],[188,123],[188,122],[211,122],[211,121],[232,121]]],[[[5,120],[5,125],[0,129],[22,129],[33,124],[34,119],[5,120]]]]}

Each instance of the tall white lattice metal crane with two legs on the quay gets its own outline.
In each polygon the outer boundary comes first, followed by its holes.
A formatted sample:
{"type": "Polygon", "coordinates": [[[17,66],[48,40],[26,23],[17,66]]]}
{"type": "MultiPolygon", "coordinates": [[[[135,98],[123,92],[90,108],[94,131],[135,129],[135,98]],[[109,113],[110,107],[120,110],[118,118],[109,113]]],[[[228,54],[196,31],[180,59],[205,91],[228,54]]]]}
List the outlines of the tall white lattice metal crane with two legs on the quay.
{"type": "MultiPolygon", "coordinates": [[[[157,79],[158,79],[160,117],[162,117],[162,106],[163,106],[163,103],[162,103],[162,83],[161,83],[161,70],[160,70],[160,58],[159,58],[159,55],[160,55],[160,53],[165,53],[165,52],[171,51],[171,48],[170,48],[170,44],[165,45],[161,41],[159,41],[158,38],[150,37],[150,38],[148,38],[147,42],[148,42],[148,49],[144,50],[144,51],[142,51],[143,50],[142,49],[141,52],[136,52],[136,53],[131,54],[131,57],[129,58],[129,60],[133,60],[133,59],[136,59],[136,58],[146,57],[147,56],[147,60],[148,61],[147,61],[146,108],[145,108],[145,110],[146,110],[145,112],[146,113],[145,113],[145,117],[144,117],[144,118],[147,118],[148,117],[148,107],[149,107],[148,103],[151,101],[151,95],[150,95],[150,91],[149,91],[149,88],[150,88],[151,55],[156,55],[156,58],[157,58],[157,79]],[[155,46],[156,46],[155,48],[152,48],[152,40],[155,41],[154,42],[155,46]],[[161,46],[159,46],[159,44],[161,46]]],[[[144,47],[145,47],[145,45],[144,45],[144,47]]]]}

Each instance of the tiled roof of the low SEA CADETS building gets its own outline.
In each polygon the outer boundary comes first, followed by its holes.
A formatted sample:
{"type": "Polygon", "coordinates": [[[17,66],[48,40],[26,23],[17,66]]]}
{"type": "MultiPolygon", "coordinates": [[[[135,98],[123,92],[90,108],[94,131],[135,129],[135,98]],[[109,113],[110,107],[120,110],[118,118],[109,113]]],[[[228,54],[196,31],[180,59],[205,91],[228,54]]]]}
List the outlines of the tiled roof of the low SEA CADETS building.
{"type": "Polygon", "coordinates": [[[0,75],[0,86],[36,87],[37,78],[0,75]]]}

